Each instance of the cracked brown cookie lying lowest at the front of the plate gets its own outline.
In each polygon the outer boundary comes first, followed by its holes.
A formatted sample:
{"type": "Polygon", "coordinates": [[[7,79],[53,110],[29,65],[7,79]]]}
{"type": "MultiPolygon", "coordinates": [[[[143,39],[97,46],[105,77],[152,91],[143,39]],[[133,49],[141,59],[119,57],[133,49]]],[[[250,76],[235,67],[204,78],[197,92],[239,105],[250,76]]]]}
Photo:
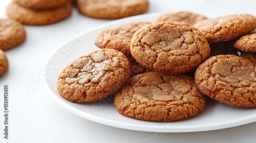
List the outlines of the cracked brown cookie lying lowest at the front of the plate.
{"type": "Polygon", "coordinates": [[[184,74],[148,72],[136,75],[114,96],[124,116],[156,122],[184,120],[206,106],[194,79],[184,74]]]}

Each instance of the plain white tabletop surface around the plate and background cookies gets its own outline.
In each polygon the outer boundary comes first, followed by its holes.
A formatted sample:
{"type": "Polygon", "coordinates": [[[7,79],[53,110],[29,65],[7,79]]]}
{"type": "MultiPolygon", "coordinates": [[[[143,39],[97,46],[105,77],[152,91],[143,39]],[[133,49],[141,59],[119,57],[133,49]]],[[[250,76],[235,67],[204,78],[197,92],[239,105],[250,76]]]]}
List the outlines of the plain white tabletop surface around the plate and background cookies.
{"type": "MultiPolygon", "coordinates": [[[[6,6],[10,2],[0,2],[1,18],[6,17],[6,6]]],[[[152,0],[147,13],[194,10],[208,17],[231,13],[249,13],[255,16],[255,4],[255,1],[152,0]]],[[[82,16],[74,9],[70,18],[59,23],[25,26],[27,40],[24,44],[6,51],[10,67],[8,73],[0,78],[0,142],[255,142],[255,122],[205,132],[141,132],[95,123],[59,106],[49,96],[39,78],[43,71],[42,66],[57,47],[108,21],[111,20],[82,16]],[[28,83],[34,84],[35,87],[29,89],[28,83]],[[4,84],[9,84],[8,140],[4,139],[3,135],[4,84]]]]}

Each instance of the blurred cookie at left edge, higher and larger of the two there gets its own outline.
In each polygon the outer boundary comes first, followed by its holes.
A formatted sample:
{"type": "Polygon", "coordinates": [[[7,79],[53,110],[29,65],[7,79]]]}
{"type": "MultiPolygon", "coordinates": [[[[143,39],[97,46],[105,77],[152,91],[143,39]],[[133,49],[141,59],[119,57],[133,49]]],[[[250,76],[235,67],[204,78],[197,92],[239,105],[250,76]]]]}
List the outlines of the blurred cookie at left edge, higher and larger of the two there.
{"type": "Polygon", "coordinates": [[[13,48],[26,40],[24,26],[12,19],[0,19],[0,49],[13,48]]]}

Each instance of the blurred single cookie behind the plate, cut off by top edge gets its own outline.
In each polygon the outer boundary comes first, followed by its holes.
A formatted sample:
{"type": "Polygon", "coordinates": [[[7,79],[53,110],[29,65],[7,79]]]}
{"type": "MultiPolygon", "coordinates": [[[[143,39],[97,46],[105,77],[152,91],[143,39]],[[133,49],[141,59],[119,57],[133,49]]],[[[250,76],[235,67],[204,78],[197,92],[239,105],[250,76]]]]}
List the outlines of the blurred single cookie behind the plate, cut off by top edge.
{"type": "Polygon", "coordinates": [[[144,13],[148,9],[148,0],[78,0],[77,9],[92,18],[118,19],[144,13]]]}

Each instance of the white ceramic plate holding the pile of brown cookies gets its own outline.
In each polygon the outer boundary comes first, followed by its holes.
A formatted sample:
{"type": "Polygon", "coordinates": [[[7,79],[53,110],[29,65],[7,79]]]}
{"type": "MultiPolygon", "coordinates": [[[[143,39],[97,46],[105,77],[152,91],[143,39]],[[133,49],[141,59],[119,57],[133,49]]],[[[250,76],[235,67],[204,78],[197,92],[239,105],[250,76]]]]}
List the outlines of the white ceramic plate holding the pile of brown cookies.
{"type": "Polygon", "coordinates": [[[224,129],[256,121],[256,108],[232,107],[208,100],[207,107],[196,117],[168,123],[147,122],[122,116],[113,105],[112,96],[93,103],[72,103],[57,92],[57,78],[69,63],[98,48],[94,40],[106,28],[135,21],[153,21],[159,14],[146,14],[116,20],[92,31],[82,33],[55,50],[46,62],[45,88],[63,108],[82,118],[113,127],[149,132],[196,132],[224,129]]]}

